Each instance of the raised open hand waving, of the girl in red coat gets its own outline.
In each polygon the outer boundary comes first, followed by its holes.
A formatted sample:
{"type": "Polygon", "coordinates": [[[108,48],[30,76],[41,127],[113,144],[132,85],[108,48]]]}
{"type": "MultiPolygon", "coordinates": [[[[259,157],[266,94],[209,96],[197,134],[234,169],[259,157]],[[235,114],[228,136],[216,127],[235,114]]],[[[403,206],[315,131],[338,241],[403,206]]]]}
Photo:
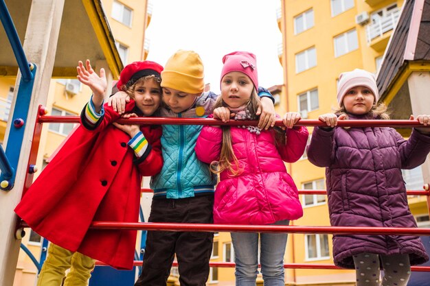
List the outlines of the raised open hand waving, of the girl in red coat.
{"type": "Polygon", "coordinates": [[[82,84],[89,86],[91,91],[93,91],[93,99],[98,102],[100,102],[100,100],[103,102],[107,88],[106,73],[104,72],[104,69],[100,69],[100,76],[98,76],[93,70],[93,67],[91,67],[91,62],[86,60],[85,67],[83,62],[79,61],[76,70],[78,71],[78,80],[82,82],[82,84]]]}

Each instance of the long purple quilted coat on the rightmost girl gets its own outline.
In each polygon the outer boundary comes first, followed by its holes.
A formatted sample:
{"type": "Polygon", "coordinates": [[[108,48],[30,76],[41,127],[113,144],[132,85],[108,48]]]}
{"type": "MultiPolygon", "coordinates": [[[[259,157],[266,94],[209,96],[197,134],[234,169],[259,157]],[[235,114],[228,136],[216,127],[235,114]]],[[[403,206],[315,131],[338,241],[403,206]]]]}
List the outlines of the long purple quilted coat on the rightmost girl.
{"type": "MultiPolygon", "coordinates": [[[[308,146],[308,159],[314,165],[327,167],[331,225],[417,227],[409,211],[400,169],[418,167],[429,151],[430,136],[416,130],[406,141],[393,128],[334,128],[330,131],[315,128],[308,146]]],[[[411,265],[429,260],[417,236],[333,236],[336,265],[353,269],[352,255],[363,252],[409,254],[411,265]]]]}

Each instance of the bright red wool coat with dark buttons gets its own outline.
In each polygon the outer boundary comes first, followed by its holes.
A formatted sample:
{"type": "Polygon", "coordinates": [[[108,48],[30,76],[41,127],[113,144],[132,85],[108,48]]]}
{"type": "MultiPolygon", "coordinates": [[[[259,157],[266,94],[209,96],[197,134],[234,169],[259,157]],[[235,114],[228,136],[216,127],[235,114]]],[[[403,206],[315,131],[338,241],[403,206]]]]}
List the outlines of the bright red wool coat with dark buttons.
{"type": "MultiPolygon", "coordinates": [[[[134,102],[126,111],[134,109],[134,102]]],[[[161,127],[141,126],[149,147],[136,159],[109,106],[94,130],[81,126],[47,165],[15,212],[39,235],[117,269],[131,269],[136,230],[93,230],[93,221],[138,222],[142,176],[161,170],[161,127]]]]}

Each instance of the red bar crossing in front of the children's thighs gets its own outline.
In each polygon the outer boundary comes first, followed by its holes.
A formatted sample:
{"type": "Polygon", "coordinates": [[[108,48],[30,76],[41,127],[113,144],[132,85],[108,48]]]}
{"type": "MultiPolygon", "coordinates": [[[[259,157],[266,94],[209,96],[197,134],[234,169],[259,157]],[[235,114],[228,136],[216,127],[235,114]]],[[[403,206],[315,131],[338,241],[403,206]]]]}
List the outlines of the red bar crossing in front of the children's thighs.
{"type": "Polygon", "coordinates": [[[246,226],[228,224],[183,224],[161,222],[93,222],[91,228],[128,230],[170,230],[195,232],[238,233],[327,233],[363,235],[423,235],[430,236],[430,228],[393,228],[364,226],[246,226]]]}

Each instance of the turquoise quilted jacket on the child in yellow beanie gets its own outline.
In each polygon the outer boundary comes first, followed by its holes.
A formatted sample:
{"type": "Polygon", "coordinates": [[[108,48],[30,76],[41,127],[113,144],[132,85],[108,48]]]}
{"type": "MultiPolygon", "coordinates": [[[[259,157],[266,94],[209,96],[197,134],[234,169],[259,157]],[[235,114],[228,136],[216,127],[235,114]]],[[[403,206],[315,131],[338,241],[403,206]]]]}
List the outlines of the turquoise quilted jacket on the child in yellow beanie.
{"type": "MultiPolygon", "coordinates": [[[[161,108],[161,117],[193,118],[196,108],[203,106],[205,114],[199,118],[212,114],[216,95],[212,92],[203,93],[197,98],[192,108],[180,113],[174,113],[161,108]]],[[[157,176],[150,182],[154,196],[172,199],[194,197],[196,193],[214,193],[216,176],[209,170],[209,166],[196,157],[194,147],[199,137],[201,125],[163,125],[161,147],[164,165],[157,176]]]]}

